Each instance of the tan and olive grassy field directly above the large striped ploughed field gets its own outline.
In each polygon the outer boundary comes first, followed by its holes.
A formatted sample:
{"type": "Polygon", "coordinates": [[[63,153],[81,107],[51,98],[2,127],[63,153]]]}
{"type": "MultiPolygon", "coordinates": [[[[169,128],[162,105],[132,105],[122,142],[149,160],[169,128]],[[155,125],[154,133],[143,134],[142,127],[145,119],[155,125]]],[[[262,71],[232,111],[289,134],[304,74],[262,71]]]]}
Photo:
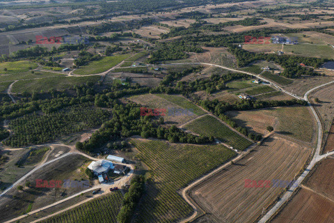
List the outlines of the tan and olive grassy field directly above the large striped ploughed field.
{"type": "Polygon", "coordinates": [[[225,114],[250,131],[265,134],[267,126],[272,125],[279,134],[308,143],[314,141],[315,123],[308,107],[278,107],[253,111],[232,111],[225,114]]]}

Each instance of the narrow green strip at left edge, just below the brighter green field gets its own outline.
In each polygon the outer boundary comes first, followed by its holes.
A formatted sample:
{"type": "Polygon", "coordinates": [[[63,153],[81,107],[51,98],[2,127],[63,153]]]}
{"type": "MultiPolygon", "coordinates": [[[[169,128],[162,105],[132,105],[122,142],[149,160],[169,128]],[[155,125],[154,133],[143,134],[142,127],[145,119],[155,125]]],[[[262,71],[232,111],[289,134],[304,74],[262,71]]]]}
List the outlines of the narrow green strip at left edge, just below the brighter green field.
{"type": "Polygon", "coordinates": [[[45,72],[45,71],[34,71],[31,73],[30,71],[19,72],[13,74],[0,75],[0,82],[14,82],[17,79],[35,79],[35,78],[43,78],[43,77],[62,77],[65,75],[56,74],[54,72],[45,72]]]}

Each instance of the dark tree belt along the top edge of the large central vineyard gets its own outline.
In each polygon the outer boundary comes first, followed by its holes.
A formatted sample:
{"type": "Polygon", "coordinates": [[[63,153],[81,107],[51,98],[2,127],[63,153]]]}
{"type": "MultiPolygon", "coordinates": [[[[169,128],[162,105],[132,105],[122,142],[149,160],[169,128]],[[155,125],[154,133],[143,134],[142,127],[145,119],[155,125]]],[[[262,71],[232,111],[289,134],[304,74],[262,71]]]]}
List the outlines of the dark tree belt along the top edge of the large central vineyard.
{"type": "Polygon", "coordinates": [[[118,100],[108,100],[107,98],[104,98],[104,100],[104,105],[113,108],[112,118],[103,123],[102,128],[94,132],[88,141],[77,144],[78,149],[92,151],[108,141],[117,141],[122,137],[131,137],[133,135],[191,144],[205,144],[213,140],[207,137],[187,134],[174,125],[170,128],[163,128],[159,126],[161,121],[154,121],[151,116],[141,116],[140,106],[135,103],[122,105],[118,100]]]}

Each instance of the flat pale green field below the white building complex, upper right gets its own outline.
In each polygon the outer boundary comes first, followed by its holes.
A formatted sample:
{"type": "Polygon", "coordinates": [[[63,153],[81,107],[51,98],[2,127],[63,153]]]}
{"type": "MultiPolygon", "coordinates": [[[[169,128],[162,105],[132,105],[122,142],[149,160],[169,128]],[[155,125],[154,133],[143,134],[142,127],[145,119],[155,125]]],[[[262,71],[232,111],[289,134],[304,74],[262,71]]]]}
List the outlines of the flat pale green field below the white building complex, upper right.
{"type": "Polygon", "coordinates": [[[299,56],[311,56],[326,59],[334,59],[334,49],[330,45],[299,44],[285,45],[284,52],[299,56]]]}

